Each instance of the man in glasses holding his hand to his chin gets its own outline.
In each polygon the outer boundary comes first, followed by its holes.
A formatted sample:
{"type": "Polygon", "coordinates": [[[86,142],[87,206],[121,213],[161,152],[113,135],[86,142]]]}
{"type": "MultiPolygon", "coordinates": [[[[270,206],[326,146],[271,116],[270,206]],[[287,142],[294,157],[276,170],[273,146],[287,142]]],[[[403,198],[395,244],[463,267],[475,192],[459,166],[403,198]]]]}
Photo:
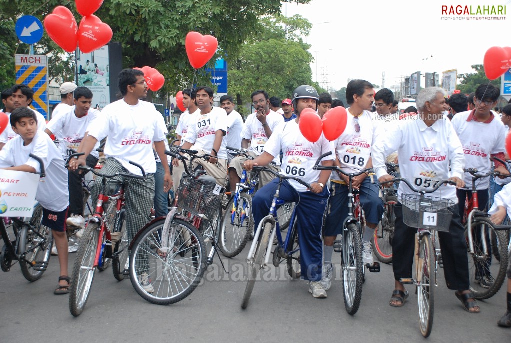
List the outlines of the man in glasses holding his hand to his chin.
{"type": "MultiPolygon", "coordinates": [[[[270,101],[266,91],[256,90],[251,95],[252,105],[255,113],[250,114],[241,130],[241,148],[248,149],[248,155],[253,158],[263,153],[264,146],[270,138],[273,131],[284,124],[284,118],[281,114],[272,111],[269,108],[270,101]],[[250,146],[248,144],[250,143],[250,146]]],[[[229,183],[230,189],[236,189],[236,184],[240,182],[243,173],[243,163],[247,160],[244,156],[235,157],[229,164],[229,183]]],[[[280,170],[281,160],[279,156],[273,158],[274,164],[268,164],[269,168],[275,171],[280,170]]],[[[273,180],[273,174],[263,172],[259,174],[259,187],[264,186],[273,180]]]]}

